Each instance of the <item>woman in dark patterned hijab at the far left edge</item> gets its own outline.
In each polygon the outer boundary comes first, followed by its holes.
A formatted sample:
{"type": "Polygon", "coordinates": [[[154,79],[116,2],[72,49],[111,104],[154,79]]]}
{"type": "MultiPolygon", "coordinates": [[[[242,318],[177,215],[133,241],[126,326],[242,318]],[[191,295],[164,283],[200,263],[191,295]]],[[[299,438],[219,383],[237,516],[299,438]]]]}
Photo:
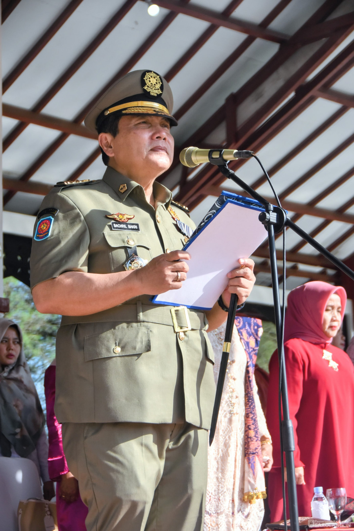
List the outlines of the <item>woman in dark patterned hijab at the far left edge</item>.
{"type": "Polygon", "coordinates": [[[43,495],[55,495],[48,475],[45,418],[24,357],[22,334],[10,319],[0,319],[0,456],[33,461],[43,495]]]}

